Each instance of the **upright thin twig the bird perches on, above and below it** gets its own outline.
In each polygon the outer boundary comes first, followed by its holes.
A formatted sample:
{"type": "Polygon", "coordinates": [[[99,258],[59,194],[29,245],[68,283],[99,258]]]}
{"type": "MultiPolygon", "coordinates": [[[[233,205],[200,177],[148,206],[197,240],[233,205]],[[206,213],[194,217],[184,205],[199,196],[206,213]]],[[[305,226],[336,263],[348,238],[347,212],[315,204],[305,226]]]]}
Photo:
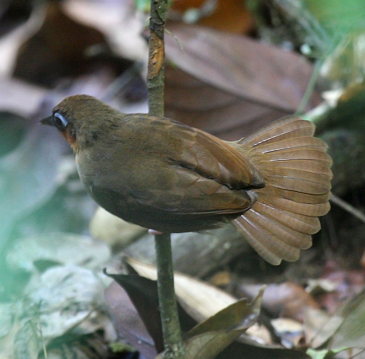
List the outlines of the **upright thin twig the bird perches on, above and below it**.
{"type": "MultiPolygon", "coordinates": [[[[164,115],[164,29],[168,0],[151,0],[147,71],[149,114],[164,115]]],[[[164,359],[184,359],[184,344],[174,291],[170,233],[155,234],[158,300],[164,336],[164,359]]]]}

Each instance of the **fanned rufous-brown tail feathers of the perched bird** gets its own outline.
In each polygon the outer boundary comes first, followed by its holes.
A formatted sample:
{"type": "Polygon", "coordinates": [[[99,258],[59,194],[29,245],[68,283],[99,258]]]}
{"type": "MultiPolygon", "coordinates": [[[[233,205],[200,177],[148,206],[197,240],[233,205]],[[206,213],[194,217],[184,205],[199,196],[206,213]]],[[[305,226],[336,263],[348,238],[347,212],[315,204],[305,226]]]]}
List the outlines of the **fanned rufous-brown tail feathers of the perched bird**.
{"type": "Polygon", "coordinates": [[[330,209],[332,160],[314,129],[290,116],[234,144],[264,175],[265,187],[254,190],[258,200],[233,224],[271,264],[297,260],[320,229],[318,216],[330,209]]]}

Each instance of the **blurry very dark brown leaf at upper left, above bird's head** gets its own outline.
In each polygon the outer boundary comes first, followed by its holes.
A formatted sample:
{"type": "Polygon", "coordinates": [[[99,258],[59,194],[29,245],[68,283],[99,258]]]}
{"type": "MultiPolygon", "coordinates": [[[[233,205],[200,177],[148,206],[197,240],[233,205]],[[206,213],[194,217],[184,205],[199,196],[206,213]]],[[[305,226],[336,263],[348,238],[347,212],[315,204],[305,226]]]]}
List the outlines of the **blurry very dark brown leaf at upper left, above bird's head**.
{"type": "Polygon", "coordinates": [[[50,1],[41,27],[19,48],[13,75],[51,86],[59,77],[86,72],[92,64],[87,51],[96,46],[108,47],[100,31],[77,23],[50,1]]]}

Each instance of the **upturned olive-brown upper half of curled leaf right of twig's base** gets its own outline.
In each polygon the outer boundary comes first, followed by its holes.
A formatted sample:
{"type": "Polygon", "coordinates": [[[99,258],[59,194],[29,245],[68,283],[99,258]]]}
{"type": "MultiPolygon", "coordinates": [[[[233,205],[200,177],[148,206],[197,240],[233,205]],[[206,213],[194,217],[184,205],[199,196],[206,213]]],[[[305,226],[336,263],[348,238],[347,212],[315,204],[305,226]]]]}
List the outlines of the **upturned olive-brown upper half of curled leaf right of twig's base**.
{"type": "Polygon", "coordinates": [[[260,290],[257,297],[250,304],[247,304],[245,299],[239,300],[202,323],[197,324],[188,332],[188,338],[207,332],[230,330],[238,327],[240,329],[247,329],[251,327],[257,321],[260,314],[264,289],[260,290]]]}

